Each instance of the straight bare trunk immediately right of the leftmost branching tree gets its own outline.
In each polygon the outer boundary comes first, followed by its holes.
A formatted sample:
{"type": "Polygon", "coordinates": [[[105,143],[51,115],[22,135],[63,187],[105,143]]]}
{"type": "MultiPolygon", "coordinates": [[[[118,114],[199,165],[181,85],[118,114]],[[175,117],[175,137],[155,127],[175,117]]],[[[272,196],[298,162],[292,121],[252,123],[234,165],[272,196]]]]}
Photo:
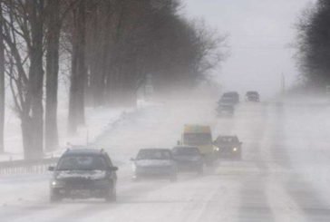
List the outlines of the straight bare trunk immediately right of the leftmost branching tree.
{"type": "Polygon", "coordinates": [[[60,16],[59,2],[49,0],[49,20],[46,53],[45,149],[59,146],[57,129],[57,91],[59,72],[60,16]]]}

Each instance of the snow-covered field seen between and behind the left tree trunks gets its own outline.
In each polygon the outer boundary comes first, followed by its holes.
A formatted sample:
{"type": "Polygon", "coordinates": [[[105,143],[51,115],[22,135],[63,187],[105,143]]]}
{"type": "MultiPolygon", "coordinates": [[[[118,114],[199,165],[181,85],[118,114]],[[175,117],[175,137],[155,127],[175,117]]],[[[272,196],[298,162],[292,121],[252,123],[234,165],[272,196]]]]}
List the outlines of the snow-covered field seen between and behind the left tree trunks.
{"type": "MultiPolygon", "coordinates": [[[[64,106],[63,106],[64,107],[64,106]]],[[[58,111],[58,131],[61,153],[67,145],[85,145],[93,142],[102,135],[107,129],[112,128],[112,124],[120,121],[125,113],[134,112],[134,109],[128,108],[98,108],[86,109],[86,124],[78,129],[74,136],[68,136],[67,133],[67,109],[61,108],[58,111]]],[[[21,134],[21,122],[15,115],[15,112],[7,109],[5,114],[5,154],[0,155],[0,160],[23,159],[23,144],[21,134]]],[[[57,155],[54,153],[54,155],[57,155]]]]}

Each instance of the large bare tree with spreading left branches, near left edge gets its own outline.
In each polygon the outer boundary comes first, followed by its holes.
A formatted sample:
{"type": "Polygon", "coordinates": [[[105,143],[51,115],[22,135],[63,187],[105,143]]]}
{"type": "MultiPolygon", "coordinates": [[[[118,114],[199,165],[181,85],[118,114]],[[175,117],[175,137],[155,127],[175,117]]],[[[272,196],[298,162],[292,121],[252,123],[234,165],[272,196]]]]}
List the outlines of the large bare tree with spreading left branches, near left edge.
{"type": "Polygon", "coordinates": [[[2,36],[12,69],[8,72],[15,110],[21,119],[24,158],[43,156],[44,0],[4,1],[2,36]]]}

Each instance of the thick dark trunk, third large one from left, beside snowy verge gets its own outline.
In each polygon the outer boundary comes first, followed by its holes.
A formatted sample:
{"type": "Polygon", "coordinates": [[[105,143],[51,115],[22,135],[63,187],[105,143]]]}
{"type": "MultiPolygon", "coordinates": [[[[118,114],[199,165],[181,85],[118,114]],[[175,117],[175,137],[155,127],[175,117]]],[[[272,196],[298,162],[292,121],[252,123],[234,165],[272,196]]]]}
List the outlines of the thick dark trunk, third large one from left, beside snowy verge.
{"type": "Polygon", "coordinates": [[[73,57],[69,101],[69,133],[84,124],[85,66],[85,0],[73,10],[73,57]]]}

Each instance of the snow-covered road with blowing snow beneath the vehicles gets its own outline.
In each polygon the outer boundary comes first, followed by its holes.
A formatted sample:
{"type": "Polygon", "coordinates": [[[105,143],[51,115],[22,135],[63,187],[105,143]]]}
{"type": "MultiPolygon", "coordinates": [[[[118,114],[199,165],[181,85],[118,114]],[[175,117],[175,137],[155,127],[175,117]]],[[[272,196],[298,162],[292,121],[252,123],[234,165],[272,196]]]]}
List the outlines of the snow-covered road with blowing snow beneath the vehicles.
{"type": "Polygon", "coordinates": [[[49,175],[0,178],[0,221],[330,221],[330,118],[325,106],[242,103],[217,119],[212,102],[166,102],[128,114],[95,146],[120,167],[118,201],[48,202],[49,175]],[[214,136],[237,134],[242,161],[222,160],[203,176],[131,181],[130,158],[172,147],[184,123],[214,136]]]}

